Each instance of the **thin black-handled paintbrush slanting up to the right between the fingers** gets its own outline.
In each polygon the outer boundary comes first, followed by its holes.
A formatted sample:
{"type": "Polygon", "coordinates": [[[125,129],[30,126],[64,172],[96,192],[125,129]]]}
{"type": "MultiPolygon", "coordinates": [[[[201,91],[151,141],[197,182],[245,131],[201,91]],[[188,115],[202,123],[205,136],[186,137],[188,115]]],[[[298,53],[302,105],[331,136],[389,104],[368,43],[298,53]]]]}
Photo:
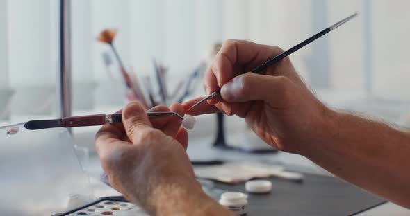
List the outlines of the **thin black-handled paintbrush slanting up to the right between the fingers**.
{"type": "MultiPolygon", "coordinates": [[[[287,51],[284,51],[284,53],[281,53],[275,57],[273,57],[272,59],[264,62],[263,64],[261,64],[260,66],[257,66],[256,68],[252,69],[251,72],[253,73],[261,73],[261,71],[265,70],[266,68],[268,68],[268,66],[271,66],[274,63],[279,62],[280,60],[283,60],[285,57],[287,57],[288,55],[295,53],[295,51],[299,50],[300,48],[306,46],[307,44],[310,44],[311,42],[313,42],[315,39],[318,39],[319,37],[322,37],[323,35],[326,35],[327,33],[329,33],[331,30],[334,30],[336,28],[338,28],[339,26],[345,24],[345,22],[349,21],[350,19],[353,19],[354,17],[356,17],[358,14],[357,12],[354,13],[353,15],[350,15],[350,17],[347,17],[345,19],[342,19],[341,21],[338,21],[336,24],[333,24],[331,26],[329,26],[329,28],[325,28],[325,30],[322,30],[320,33],[317,33],[316,35],[313,35],[312,37],[309,37],[308,39],[305,39],[303,42],[301,42],[300,44],[297,44],[296,46],[293,46],[292,48],[288,49],[287,51]]],[[[198,105],[202,104],[203,102],[220,95],[220,90],[215,91],[213,93],[211,93],[209,96],[206,96],[204,99],[200,100],[199,102],[197,102],[195,105],[193,105],[192,107],[190,107],[189,109],[195,108],[198,105]]]]}

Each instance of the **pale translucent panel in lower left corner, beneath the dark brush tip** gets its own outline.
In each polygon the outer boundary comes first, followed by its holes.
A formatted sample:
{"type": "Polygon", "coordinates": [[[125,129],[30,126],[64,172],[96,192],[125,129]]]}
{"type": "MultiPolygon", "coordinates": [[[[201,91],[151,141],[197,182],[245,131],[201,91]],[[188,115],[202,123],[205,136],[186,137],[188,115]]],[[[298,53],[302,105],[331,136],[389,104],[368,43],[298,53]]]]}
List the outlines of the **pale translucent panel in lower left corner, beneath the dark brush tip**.
{"type": "Polygon", "coordinates": [[[74,150],[66,129],[22,128],[14,135],[0,129],[0,143],[3,215],[54,215],[73,207],[70,195],[93,199],[77,158],[82,154],[80,158],[87,160],[88,152],[74,150]]]}

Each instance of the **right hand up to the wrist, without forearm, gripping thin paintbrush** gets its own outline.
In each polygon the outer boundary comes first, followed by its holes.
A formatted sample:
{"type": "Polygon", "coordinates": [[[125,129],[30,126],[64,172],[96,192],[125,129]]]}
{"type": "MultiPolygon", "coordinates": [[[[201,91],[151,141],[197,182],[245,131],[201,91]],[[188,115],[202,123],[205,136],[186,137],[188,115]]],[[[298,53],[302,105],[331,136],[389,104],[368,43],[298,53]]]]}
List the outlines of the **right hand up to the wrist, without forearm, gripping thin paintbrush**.
{"type": "MultiPolygon", "coordinates": [[[[207,94],[221,89],[221,96],[208,100],[188,114],[224,111],[240,116],[266,143],[286,152],[302,152],[302,144],[314,143],[327,133],[333,111],[313,96],[289,58],[263,74],[248,72],[283,50],[247,41],[228,40],[204,78],[207,94]],[[318,134],[321,133],[321,134],[318,134]]],[[[186,109],[202,98],[184,104],[186,109]]]]}

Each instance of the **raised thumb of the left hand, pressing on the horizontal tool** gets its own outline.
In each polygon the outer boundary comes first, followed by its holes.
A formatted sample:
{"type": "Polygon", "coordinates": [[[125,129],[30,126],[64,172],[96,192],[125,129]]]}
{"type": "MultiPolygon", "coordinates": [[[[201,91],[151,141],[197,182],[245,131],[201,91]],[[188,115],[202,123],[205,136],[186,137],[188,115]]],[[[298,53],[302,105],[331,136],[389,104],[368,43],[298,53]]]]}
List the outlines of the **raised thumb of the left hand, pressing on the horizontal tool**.
{"type": "Polygon", "coordinates": [[[144,107],[139,102],[130,102],[122,109],[122,123],[126,136],[132,143],[138,143],[139,137],[142,136],[147,129],[152,128],[151,122],[144,107]]]}

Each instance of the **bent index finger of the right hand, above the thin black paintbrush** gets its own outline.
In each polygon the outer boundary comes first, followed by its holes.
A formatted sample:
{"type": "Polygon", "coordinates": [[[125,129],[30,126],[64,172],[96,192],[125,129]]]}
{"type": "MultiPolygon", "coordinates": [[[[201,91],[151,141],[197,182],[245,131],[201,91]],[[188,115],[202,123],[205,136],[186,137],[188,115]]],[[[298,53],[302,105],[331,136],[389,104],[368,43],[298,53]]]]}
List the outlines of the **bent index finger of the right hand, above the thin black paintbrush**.
{"type": "MultiPolygon", "coordinates": [[[[203,82],[206,93],[219,90],[236,75],[249,72],[280,53],[282,53],[281,48],[276,46],[265,46],[243,40],[227,40],[215,56],[211,68],[206,71],[203,82]]],[[[219,100],[218,97],[209,102],[215,104],[219,100]]]]}

